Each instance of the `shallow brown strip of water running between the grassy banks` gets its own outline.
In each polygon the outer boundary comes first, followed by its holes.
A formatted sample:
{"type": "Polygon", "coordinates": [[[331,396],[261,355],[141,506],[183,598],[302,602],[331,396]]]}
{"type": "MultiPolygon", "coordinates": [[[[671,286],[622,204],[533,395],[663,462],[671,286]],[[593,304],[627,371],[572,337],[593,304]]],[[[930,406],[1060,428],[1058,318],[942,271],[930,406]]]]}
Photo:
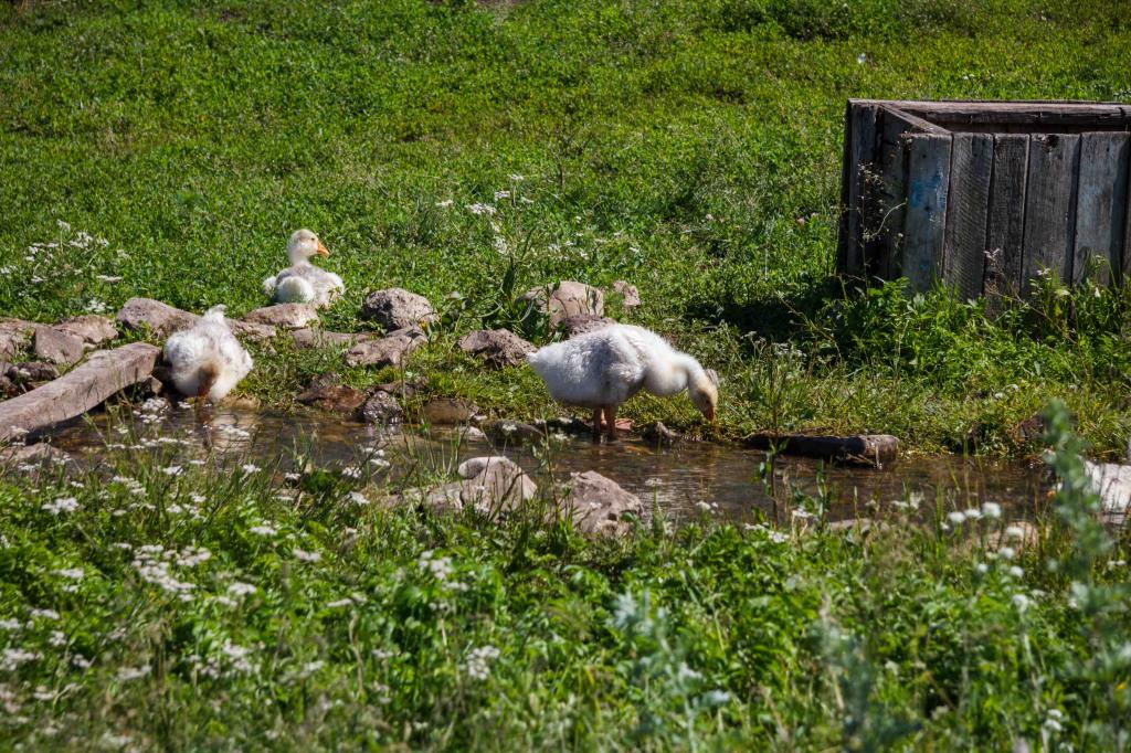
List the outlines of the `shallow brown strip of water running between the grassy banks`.
{"type": "MultiPolygon", "coordinates": [[[[395,470],[412,465],[411,458],[454,468],[466,458],[501,451],[536,479],[547,479],[549,465],[559,479],[571,471],[596,470],[646,501],[655,500],[676,518],[709,511],[741,520],[754,508],[769,513],[774,507],[758,473],[765,453],[710,443],[655,449],[636,440],[595,445],[588,439],[571,439],[554,445],[546,456],[524,447],[464,440],[451,429],[429,434],[412,429],[387,432],[314,412],[222,408],[200,414],[180,407],[140,416],[100,414],[54,432],[50,440],[94,461],[107,444],[132,444],[173,457],[201,457],[211,451],[221,460],[251,462],[273,461],[280,453],[291,457],[293,450],[303,450],[322,466],[351,466],[374,447],[382,447],[395,470]]],[[[904,458],[882,469],[780,458],[775,484],[779,499],[787,497],[791,487],[813,495],[823,486],[831,519],[869,514],[872,502],[890,503],[912,494],[923,496],[924,509],[934,503],[966,509],[992,501],[1010,510],[1010,517],[1029,517],[1048,490],[1039,465],[955,456],[904,458]]]]}

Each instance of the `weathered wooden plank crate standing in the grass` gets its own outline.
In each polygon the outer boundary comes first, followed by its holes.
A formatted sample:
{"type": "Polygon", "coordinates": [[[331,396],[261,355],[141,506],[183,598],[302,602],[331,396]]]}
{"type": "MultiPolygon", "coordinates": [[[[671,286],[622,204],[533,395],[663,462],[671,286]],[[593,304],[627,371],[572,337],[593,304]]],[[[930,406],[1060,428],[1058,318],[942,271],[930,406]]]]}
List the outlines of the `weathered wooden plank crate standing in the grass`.
{"type": "Polygon", "coordinates": [[[849,99],[838,269],[964,298],[1025,296],[1043,269],[1119,283],[1129,128],[1117,104],[849,99]]]}

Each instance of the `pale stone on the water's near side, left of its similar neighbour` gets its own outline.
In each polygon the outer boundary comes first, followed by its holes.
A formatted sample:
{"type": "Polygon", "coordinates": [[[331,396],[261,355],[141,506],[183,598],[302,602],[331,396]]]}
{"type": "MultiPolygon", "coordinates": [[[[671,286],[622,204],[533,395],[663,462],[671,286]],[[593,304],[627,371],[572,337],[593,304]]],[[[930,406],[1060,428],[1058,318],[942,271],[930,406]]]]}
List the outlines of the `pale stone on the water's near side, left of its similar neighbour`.
{"type": "Polygon", "coordinates": [[[407,490],[400,501],[423,504],[435,512],[473,508],[492,514],[512,511],[537,493],[530,477],[509,458],[472,458],[460,464],[459,475],[464,481],[432,490],[407,490]]]}

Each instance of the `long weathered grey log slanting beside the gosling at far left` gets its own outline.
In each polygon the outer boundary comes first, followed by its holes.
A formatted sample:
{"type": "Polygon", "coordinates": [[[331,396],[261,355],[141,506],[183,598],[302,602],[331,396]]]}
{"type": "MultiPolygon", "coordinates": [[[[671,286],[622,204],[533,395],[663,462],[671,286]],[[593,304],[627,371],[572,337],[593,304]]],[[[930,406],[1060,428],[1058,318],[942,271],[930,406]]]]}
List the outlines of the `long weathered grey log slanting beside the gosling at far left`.
{"type": "Polygon", "coordinates": [[[83,415],[119,390],[148,378],[159,354],[161,348],[146,343],[97,350],[59,379],[0,403],[0,441],[83,415]]]}

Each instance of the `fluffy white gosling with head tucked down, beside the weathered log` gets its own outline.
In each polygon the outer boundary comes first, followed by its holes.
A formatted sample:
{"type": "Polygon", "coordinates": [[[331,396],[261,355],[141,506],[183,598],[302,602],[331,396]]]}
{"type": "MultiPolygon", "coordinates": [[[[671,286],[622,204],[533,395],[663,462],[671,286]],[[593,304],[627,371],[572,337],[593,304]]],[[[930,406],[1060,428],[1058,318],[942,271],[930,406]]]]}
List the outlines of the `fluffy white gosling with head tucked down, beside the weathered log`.
{"type": "Polygon", "coordinates": [[[225,306],[213,306],[189,329],[165,340],[165,361],[183,395],[219,400],[251,371],[251,356],[224,320],[225,306]]]}

